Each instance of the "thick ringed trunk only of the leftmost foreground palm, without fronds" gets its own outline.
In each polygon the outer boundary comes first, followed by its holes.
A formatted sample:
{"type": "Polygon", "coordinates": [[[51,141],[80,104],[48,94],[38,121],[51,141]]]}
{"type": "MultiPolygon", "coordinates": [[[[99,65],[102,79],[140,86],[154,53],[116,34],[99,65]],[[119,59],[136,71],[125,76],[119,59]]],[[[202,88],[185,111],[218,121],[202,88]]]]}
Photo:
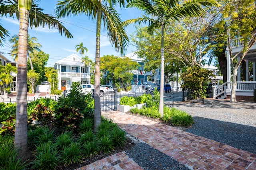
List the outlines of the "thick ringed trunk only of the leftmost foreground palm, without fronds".
{"type": "Polygon", "coordinates": [[[18,157],[26,159],[29,154],[27,137],[28,10],[25,8],[20,8],[18,47],[16,130],[14,145],[17,149],[19,149],[18,157]]]}

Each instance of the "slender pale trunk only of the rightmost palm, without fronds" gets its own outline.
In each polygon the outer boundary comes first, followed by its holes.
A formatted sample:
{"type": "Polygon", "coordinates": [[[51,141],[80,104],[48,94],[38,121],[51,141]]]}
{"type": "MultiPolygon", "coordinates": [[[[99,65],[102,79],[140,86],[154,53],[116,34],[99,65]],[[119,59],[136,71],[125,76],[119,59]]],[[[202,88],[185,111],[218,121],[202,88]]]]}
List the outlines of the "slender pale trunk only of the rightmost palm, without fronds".
{"type": "Polygon", "coordinates": [[[164,25],[161,26],[162,37],[161,37],[161,75],[160,75],[160,99],[158,111],[160,116],[164,115],[164,25]]]}

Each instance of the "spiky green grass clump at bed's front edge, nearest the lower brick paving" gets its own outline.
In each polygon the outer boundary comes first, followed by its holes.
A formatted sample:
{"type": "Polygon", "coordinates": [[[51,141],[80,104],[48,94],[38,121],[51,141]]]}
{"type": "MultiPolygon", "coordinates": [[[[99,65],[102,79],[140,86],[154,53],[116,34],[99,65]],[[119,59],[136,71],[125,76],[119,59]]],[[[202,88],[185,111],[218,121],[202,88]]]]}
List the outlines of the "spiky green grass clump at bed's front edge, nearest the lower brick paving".
{"type": "Polygon", "coordinates": [[[80,154],[81,147],[78,143],[71,143],[70,146],[65,147],[60,154],[60,160],[64,163],[64,166],[70,164],[82,162],[82,157],[80,154]]]}

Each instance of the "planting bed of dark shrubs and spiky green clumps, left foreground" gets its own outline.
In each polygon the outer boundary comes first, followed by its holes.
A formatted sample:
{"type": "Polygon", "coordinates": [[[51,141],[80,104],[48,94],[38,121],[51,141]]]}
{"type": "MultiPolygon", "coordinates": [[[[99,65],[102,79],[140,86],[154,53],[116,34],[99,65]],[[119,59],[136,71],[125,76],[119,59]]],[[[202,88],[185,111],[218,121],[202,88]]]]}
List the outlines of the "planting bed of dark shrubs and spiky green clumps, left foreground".
{"type": "MultiPolygon", "coordinates": [[[[116,123],[102,117],[93,132],[93,98],[84,95],[79,84],[72,86],[70,95],[55,102],[40,98],[28,104],[28,146],[31,156],[25,162],[17,159],[14,147],[15,104],[0,104],[8,114],[0,114],[1,122],[13,118],[0,135],[0,170],[76,169],[112,153],[127,144],[126,133],[116,123]],[[72,101],[72,107],[70,103],[72,101]]],[[[7,123],[6,123],[7,124],[7,123]]]]}

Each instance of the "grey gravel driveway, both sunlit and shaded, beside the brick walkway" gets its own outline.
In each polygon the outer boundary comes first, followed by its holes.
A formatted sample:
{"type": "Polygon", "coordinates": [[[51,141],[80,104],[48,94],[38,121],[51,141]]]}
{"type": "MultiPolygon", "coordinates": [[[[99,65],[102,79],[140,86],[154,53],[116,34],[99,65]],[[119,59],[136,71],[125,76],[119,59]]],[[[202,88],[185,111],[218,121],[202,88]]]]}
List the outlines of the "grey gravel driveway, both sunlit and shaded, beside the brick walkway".
{"type": "Polygon", "coordinates": [[[206,99],[204,104],[176,102],[192,115],[185,131],[256,154],[256,103],[206,99]]]}

